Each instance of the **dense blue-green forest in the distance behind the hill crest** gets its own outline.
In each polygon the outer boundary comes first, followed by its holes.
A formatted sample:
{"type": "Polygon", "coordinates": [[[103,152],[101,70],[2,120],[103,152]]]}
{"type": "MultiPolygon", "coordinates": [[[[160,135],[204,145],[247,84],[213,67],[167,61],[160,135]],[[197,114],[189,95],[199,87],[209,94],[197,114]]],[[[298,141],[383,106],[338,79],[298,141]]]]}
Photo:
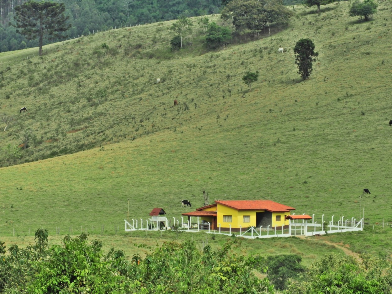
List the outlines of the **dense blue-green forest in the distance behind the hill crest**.
{"type": "MultiPolygon", "coordinates": [[[[39,2],[40,0],[38,0],[39,2]]],[[[0,52],[38,46],[16,33],[13,22],[15,6],[27,0],[0,0],[0,52]]],[[[53,0],[63,2],[72,28],[70,38],[121,25],[136,25],[178,19],[180,16],[201,16],[220,13],[222,0],[53,0]]],[[[285,5],[301,0],[283,0],[285,5]]],[[[44,45],[47,39],[44,39],[44,45]]],[[[47,44],[47,43],[46,43],[47,44]]]]}

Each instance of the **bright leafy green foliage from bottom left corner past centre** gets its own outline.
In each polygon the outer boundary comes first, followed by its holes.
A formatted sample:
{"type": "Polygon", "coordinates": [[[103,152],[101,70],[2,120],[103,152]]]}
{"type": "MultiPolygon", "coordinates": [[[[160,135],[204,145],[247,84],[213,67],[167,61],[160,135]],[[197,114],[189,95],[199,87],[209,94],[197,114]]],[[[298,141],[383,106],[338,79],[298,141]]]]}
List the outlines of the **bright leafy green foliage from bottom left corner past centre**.
{"type": "MultiPolygon", "coordinates": [[[[36,236],[45,239],[46,231],[37,230],[36,236]]],[[[63,245],[51,245],[44,252],[38,247],[19,250],[13,245],[10,256],[1,256],[0,290],[42,294],[273,293],[267,279],[252,273],[260,259],[231,253],[233,245],[239,246],[240,241],[229,241],[217,252],[209,245],[201,252],[193,241],[164,243],[144,260],[135,254],[131,262],[122,250],[111,249],[104,255],[102,242],[87,243],[85,234],[65,236],[63,245]]]]}

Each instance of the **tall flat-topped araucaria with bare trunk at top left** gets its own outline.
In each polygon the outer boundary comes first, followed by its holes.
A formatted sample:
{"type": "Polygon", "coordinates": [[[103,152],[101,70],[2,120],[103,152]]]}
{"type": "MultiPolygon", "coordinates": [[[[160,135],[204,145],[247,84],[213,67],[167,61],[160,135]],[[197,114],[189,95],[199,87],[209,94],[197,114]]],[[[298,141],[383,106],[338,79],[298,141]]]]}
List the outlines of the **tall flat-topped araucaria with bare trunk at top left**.
{"type": "Polygon", "coordinates": [[[39,55],[41,56],[42,41],[45,35],[49,40],[66,37],[61,33],[67,31],[71,25],[67,24],[69,16],[65,16],[64,11],[64,3],[29,0],[15,7],[16,24],[11,25],[18,28],[16,32],[25,35],[29,40],[39,38],[39,55]]]}

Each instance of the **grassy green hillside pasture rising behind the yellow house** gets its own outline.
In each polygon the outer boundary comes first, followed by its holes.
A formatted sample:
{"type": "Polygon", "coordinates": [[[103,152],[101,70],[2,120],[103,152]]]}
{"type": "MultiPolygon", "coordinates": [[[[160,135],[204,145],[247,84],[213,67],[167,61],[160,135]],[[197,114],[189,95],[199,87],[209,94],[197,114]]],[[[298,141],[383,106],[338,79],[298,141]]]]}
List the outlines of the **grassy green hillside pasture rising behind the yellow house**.
{"type": "MultiPolygon", "coordinates": [[[[0,54],[0,113],[16,118],[0,134],[2,153],[27,130],[24,160],[36,160],[0,169],[0,235],[122,233],[128,198],[129,218],[154,207],[179,218],[206,191],[210,202],[271,199],[318,222],[365,208],[367,231],[345,242],[369,238],[372,223],[392,222],[390,8],[380,3],[367,23],[348,9],[295,6],[285,31],[210,53],[197,33],[171,53],[165,22],[51,45],[42,58],[0,54]],[[301,38],[319,52],[306,81],[292,49],[301,38]],[[249,92],[241,78],[256,70],[249,92]]],[[[389,255],[380,242],[366,250],[389,255]]]]}

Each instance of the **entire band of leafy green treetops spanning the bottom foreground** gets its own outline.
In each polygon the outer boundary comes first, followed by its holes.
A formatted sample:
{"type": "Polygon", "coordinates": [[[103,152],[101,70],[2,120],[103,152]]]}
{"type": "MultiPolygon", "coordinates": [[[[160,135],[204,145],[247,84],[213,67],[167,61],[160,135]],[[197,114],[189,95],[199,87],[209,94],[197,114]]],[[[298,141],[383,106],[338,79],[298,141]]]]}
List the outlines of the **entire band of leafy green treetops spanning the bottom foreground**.
{"type": "MultiPolygon", "coordinates": [[[[176,232],[172,232],[176,234],[176,232]]],[[[370,255],[326,255],[309,268],[301,256],[236,254],[241,239],[220,249],[198,249],[194,241],[165,242],[145,257],[122,250],[105,254],[102,242],[82,233],[49,244],[38,229],[27,248],[0,242],[0,293],[391,293],[391,263],[370,255]],[[258,278],[255,272],[265,274],[258,278]],[[276,292],[278,290],[279,292],[276,292]]],[[[214,238],[212,238],[214,240],[214,238]]]]}

